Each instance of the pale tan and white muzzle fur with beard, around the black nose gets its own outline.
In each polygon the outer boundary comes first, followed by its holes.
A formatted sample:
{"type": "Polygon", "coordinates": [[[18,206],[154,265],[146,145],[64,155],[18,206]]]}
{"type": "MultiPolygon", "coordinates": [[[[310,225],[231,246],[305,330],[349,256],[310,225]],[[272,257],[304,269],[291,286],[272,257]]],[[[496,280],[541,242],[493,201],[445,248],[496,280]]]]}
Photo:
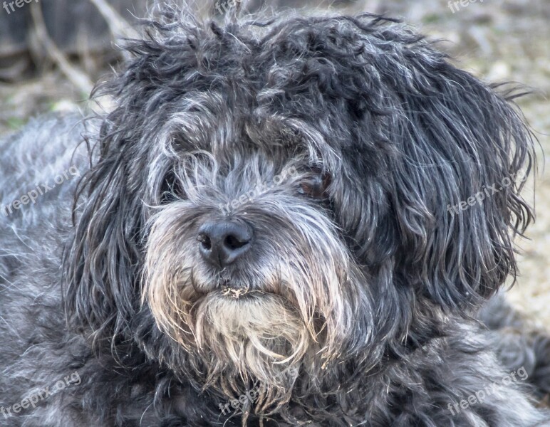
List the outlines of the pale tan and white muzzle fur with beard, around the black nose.
{"type": "Polygon", "coordinates": [[[290,202],[279,205],[285,207],[277,212],[270,204],[269,214],[247,208],[247,218],[260,228],[261,218],[266,230],[272,228],[278,214],[294,228],[277,230],[273,240],[284,245],[264,246],[259,262],[234,272],[239,290],[224,288],[227,278],[212,275],[197,255],[192,230],[204,214],[197,204],[162,207],[151,221],[142,281],[143,302],[160,329],[190,354],[204,388],[238,398],[261,384],[258,413],[290,399],[305,357],[318,369],[338,357],[357,301],[350,294],[358,281],[328,218],[301,203],[289,218],[290,202]]]}

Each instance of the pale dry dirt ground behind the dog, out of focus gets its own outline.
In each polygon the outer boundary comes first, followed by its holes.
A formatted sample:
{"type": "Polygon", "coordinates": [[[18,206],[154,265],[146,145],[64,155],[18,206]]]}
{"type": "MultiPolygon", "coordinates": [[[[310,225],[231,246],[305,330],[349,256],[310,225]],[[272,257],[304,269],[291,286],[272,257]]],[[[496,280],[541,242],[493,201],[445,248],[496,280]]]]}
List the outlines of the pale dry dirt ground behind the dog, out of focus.
{"type": "MultiPolygon", "coordinates": [[[[514,81],[533,90],[519,105],[540,142],[539,171],[526,189],[536,206],[536,223],[527,233],[530,240],[518,241],[521,276],[509,298],[534,322],[550,327],[550,171],[544,167],[550,153],[550,1],[366,0],[348,8],[359,9],[402,17],[441,39],[440,48],[458,66],[483,80],[514,81]]],[[[0,83],[0,135],[43,112],[87,108],[85,93],[46,64],[40,78],[0,83]]]]}

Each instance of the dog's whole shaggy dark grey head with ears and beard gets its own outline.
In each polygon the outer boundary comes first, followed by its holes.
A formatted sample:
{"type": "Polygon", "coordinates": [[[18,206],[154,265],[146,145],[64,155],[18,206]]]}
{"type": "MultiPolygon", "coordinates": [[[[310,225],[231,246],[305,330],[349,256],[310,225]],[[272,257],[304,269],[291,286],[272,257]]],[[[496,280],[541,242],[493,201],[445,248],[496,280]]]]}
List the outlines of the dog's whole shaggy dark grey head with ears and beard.
{"type": "Polygon", "coordinates": [[[269,405],[289,368],[373,367],[514,275],[531,135],[427,41],[373,16],[148,33],[105,85],[73,324],[269,405]]]}

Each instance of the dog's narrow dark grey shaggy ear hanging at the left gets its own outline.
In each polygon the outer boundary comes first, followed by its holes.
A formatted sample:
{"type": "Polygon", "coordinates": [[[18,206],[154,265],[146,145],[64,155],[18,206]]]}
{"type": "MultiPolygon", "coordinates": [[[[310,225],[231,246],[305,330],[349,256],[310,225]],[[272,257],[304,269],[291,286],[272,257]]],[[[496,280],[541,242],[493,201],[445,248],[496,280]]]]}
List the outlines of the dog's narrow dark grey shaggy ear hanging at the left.
{"type": "Polygon", "coordinates": [[[135,150],[129,141],[107,132],[100,138],[99,162],[78,188],[75,227],[63,263],[69,322],[90,327],[95,339],[125,332],[139,307],[135,279],[142,201],[136,172],[145,165],[143,159],[132,158],[135,150]]]}

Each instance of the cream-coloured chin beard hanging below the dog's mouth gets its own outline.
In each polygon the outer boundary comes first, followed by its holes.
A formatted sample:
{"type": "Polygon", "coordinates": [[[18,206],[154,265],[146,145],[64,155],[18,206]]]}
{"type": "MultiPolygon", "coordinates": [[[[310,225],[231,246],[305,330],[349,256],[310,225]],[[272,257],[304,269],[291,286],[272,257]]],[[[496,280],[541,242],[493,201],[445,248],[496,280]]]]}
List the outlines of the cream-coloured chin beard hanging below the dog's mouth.
{"type": "Polygon", "coordinates": [[[311,339],[283,298],[254,293],[239,300],[217,292],[204,297],[195,313],[194,335],[209,367],[205,384],[234,397],[244,388],[259,389],[256,410],[263,411],[288,401],[311,339]]]}

